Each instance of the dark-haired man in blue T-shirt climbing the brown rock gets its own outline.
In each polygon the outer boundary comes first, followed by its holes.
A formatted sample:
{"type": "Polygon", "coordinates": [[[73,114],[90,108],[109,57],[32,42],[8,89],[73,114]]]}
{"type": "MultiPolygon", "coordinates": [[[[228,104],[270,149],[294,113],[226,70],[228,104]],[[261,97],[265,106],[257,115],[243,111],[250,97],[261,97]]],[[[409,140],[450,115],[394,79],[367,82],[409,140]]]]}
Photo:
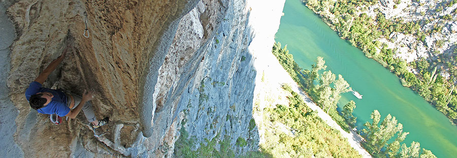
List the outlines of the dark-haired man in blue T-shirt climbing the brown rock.
{"type": "Polygon", "coordinates": [[[32,109],[42,114],[57,114],[60,117],[67,116],[76,118],[78,113],[84,111],[87,120],[92,123],[93,128],[99,128],[108,123],[109,118],[97,120],[89,101],[93,100],[93,91],[84,90],[82,97],[64,93],[61,90],[42,87],[49,74],[57,68],[67,54],[68,46],[63,49],[62,54],[54,59],[43,72],[38,75],[35,81],[31,82],[25,90],[25,98],[32,109]]]}

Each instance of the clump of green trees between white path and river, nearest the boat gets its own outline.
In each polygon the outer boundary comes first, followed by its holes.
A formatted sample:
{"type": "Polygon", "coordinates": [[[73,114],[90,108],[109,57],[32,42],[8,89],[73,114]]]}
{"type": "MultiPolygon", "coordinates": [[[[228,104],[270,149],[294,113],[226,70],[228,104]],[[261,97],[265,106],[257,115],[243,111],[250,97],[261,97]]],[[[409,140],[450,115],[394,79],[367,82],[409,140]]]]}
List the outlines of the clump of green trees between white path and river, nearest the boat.
{"type": "Polygon", "coordinates": [[[351,89],[344,78],[338,75],[337,79],[332,71],[323,71],[327,66],[325,66],[325,61],[322,57],[317,57],[316,64],[312,65],[312,70],[303,70],[293,60],[292,54],[288,53],[287,46],[281,48],[279,42],[275,43],[272,52],[284,70],[308,93],[310,98],[325,110],[343,130],[349,132],[348,124],[336,110],[338,101],[341,98],[340,94],[351,89]],[[315,82],[317,84],[314,84],[315,82]]]}

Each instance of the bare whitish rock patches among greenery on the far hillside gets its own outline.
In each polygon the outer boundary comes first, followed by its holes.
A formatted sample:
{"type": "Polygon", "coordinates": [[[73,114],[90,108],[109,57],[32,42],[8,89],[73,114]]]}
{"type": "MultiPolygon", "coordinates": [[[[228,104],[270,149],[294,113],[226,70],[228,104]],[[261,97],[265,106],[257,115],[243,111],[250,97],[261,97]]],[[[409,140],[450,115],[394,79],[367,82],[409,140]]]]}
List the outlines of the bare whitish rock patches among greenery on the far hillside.
{"type": "MultiPolygon", "coordinates": [[[[418,58],[436,58],[442,53],[451,54],[456,48],[457,24],[455,24],[455,19],[457,15],[455,10],[457,4],[447,6],[451,0],[381,0],[377,2],[372,6],[357,7],[356,14],[365,13],[376,19],[377,14],[382,13],[386,19],[397,19],[402,23],[418,23],[420,25],[418,31],[427,35],[425,40],[421,41],[419,40],[421,37],[416,34],[393,32],[388,37],[382,36],[376,40],[381,44],[386,44],[387,48],[394,49],[396,58],[412,62],[418,58]],[[443,18],[444,15],[450,15],[449,19],[443,18]],[[438,31],[435,32],[435,29],[438,31]],[[436,45],[436,43],[441,44],[436,45]]],[[[319,11],[317,14],[328,19],[327,23],[331,27],[335,27],[331,23],[337,23],[338,18],[330,12],[332,8],[332,3],[329,3],[326,10],[319,11]]],[[[336,28],[333,29],[336,30],[336,28]]]]}

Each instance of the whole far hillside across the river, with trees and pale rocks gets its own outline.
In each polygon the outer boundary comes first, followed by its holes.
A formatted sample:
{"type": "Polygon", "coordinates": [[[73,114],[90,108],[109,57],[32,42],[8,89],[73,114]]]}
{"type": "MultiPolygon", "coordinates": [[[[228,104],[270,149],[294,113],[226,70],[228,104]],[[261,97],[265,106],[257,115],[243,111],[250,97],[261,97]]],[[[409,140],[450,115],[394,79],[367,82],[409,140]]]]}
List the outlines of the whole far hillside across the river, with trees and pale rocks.
{"type": "Polygon", "coordinates": [[[339,36],[457,123],[457,1],[308,0],[339,36]]]}

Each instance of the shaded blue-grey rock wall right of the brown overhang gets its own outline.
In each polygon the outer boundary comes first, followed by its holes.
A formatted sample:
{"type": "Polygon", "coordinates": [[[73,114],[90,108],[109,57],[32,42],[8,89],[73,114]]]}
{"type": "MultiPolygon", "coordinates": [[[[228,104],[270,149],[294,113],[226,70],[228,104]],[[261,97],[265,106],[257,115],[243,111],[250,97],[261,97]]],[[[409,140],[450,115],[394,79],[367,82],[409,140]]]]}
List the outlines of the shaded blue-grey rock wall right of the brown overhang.
{"type": "Polygon", "coordinates": [[[256,74],[252,54],[247,49],[253,38],[248,25],[250,9],[245,1],[220,2],[218,5],[202,1],[181,21],[175,45],[166,57],[156,85],[159,92],[155,95],[158,110],[154,124],[160,129],[164,127],[160,125],[163,121],[177,119],[183,121],[181,128],[198,142],[228,137],[234,150],[253,150],[257,148],[258,134],[255,129],[248,130],[256,74]],[[194,39],[182,38],[181,31],[194,39]],[[195,47],[199,44],[200,47],[195,47]],[[183,56],[180,53],[183,51],[190,54],[183,56]],[[250,145],[235,149],[239,137],[250,145]]]}

